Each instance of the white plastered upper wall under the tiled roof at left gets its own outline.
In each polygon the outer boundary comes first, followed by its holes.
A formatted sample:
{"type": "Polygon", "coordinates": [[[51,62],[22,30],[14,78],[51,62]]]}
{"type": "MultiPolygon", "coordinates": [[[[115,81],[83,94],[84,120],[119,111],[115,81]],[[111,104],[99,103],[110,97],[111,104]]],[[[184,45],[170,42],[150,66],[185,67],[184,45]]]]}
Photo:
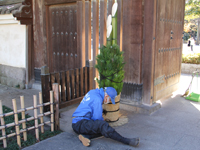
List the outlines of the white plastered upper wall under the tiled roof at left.
{"type": "Polygon", "coordinates": [[[26,67],[26,26],[12,14],[0,15],[0,64],[26,67]]]}

